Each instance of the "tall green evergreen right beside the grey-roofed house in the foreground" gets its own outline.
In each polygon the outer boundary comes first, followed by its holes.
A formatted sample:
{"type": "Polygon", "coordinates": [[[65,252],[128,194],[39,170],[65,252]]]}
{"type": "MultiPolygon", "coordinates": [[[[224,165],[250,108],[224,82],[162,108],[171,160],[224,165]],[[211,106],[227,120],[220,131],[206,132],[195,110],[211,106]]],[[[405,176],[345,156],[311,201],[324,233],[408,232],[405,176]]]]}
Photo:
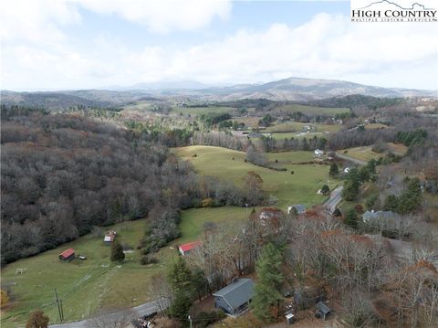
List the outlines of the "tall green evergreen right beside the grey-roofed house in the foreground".
{"type": "Polygon", "coordinates": [[[283,298],[281,285],[284,275],[281,272],[283,256],[280,249],[273,244],[267,244],[255,264],[257,283],[254,287],[251,309],[255,316],[262,321],[273,321],[278,311],[278,305],[283,298]]]}

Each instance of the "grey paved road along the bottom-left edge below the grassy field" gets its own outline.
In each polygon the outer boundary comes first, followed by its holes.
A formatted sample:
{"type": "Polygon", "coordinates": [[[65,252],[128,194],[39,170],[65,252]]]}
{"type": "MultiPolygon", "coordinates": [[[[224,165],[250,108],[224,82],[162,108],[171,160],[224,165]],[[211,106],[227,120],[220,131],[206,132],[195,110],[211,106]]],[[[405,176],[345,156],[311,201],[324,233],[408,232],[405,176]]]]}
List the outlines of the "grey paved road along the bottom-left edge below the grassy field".
{"type": "MultiPolygon", "coordinates": [[[[159,302],[161,302],[163,307],[169,307],[169,302],[165,299],[157,300],[157,301],[152,301],[152,302],[146,302],[144,304],[141,304],[139,306],[136,306],[134,308],[129,309],[131,312],[134,312],[134,316],[135,317],[142,317],[143,315],[150,315],[154,312],[160,312],[162,309],[160,309],[160,306],[158,305],[159,302]]],[[[103,314],[105,315],[107,320],[111,319],[111,318],[118,318],[122,315],[126,315],[125,311],[120,311],[120,312],[113,312],[110,314],[103,314]]],[[[103,316],[102,316],[103,317],[103,316]]],[[[94,318],[89,318],[89,320],[82,320],[80,322],[74,322],[74,323],[59,323],[59,324],[50,324],[48,327],[49,328],[89,328],[90,326],[93,326],[92,321],[98,321],[99,322],[99,317],[94,317],[94,318]]],[[[103,320],[102,320],[103,322],[103,320]]]]}

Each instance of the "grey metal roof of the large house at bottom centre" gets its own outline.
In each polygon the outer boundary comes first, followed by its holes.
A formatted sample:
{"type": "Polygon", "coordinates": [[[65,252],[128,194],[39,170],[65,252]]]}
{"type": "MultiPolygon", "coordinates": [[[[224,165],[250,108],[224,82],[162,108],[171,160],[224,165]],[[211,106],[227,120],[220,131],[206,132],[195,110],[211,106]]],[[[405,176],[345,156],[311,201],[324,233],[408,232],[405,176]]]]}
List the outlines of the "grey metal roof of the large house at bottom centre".
{"type": "Polygon", "coordinates": [[[216,291],[213,296],[223,297],[233,309],[237,309],[252,299],[253,286],[253,280],[240,278],[222,290],[216,291]]]}

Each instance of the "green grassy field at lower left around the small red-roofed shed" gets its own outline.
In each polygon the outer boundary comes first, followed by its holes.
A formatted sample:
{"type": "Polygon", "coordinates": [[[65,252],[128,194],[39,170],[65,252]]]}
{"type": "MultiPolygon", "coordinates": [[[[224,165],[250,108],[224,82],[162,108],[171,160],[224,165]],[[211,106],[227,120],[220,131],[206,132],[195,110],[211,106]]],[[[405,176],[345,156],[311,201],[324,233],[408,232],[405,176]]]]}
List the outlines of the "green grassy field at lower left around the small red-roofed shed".
{"type": "Polygon", "coordinates": [[[66,321],[82,320],[99,308],[125,308],[151,300],[153,295],[148,292],[151,277],[161,274],[175,253],[162,249],[157,255],[160,263],[141,266],[140,251],[136,247],[144,225],[145,221],[141,219],[114,226],[120,242],[134,249],[126,254],[121,266],[110,262],[110,247],[104,245],[102,238],[92,235],[8,264],[2,270],[2,285],[11,285],[14,300],[3,309],[1,326],[24,326],[29,312],[35,309],[47,313],[50,323],[58,323],[55,288],[62,299],[66,321]],[[75,259],[70,263],[60,261],[58,254],[69,248],[87,259],[75,259]],[[23,269],[23,274],[16,275],[16,269],[23,269]]]}

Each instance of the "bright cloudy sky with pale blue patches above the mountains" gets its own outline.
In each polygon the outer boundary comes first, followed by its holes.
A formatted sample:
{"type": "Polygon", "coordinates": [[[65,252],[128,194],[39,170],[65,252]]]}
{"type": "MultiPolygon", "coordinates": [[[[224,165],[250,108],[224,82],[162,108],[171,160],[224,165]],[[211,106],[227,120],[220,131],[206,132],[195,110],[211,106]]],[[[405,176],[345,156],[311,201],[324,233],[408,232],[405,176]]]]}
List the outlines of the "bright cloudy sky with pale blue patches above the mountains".
{"type": "Polygon", "coordinates": [[[438,90],[438,23],[354,23],[349,5],[2,0],[0,89],[301,77],[438,90]]]}

